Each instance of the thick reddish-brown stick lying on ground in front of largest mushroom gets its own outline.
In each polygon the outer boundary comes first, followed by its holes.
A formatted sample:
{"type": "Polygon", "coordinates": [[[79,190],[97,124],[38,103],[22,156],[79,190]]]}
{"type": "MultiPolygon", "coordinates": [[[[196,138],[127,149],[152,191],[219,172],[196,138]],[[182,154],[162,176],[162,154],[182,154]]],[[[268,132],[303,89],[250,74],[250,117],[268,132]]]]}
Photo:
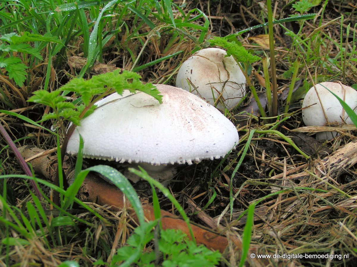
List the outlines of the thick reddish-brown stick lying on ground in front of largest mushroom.
{"type": "MultiPolygon", "coordinates": [[[[19,151],[24,158],[29,158],[37,153],[41,153],[41,150],[36,147],[20,147],[19,151]]],[[[44,177],[53,178],[56,176],[57,170],[57,156],[46,155],[32,159],[32,166],[37,174],[44,177]]],[[[63,163],[63,168],[67,177],[70,177],[70,173],[73,168],[66,161],[63,163]]],[[[70,183],[70,181],[69,181],[70,183]]],[[[89,173],[85,178],[84,183],[79,191],[79,198],[82,201],[96,202],[100,205],[109,205],[112,210],[120,210],[124,206],[129,206],[128,203],[124,203],[122,192],[114,185],[106,183],[104,180],[97,178],[94,174],[89,173]]],[[[149,204],[143,204],[144,214],[148,220],[154,220],[154,208],[149,204]]],[[[135,214],[131,214],[135,217],[135,214]]],[[[179,217],[172,215],[171,213],[161,210],[161,222],[164,229],[180,229],[185,234],[190,236],[187,224],[179,217]]],[[[203,229],[203,227],[191,224],[193,234],[197,243],[203,244],[208,248],[218,250],[223,253],[228,246],[228,240],[225,236],[221,236],[213,231],[203,229]]]]}

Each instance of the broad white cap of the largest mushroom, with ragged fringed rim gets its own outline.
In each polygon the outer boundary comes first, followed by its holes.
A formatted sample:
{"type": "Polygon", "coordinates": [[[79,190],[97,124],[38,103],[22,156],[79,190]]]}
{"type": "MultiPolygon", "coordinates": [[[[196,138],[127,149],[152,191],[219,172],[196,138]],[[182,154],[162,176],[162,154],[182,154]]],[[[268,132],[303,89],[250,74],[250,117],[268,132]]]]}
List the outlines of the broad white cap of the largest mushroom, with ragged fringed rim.
{"type": "Polygon", "coordinates": [[[225,156],[238,143],[236,127],[216,108],[183,89],[156,85],[162,104],[139,92],[115,93],[97,102],[69,139],[76,154],[120,162],[174,164],[225,156]]]}

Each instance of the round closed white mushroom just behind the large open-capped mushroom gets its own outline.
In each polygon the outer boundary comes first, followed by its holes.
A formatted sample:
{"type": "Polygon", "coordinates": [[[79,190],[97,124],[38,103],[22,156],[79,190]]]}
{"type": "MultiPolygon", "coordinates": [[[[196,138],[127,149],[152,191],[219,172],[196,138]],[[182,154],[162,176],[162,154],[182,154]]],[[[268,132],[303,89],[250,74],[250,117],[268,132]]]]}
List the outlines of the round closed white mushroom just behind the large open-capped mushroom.
{"type": "Polygon", "coordinates": [[[219,109],[234,108],[245,95],[246,79],[234,58],[226,55],[220,48],[196,52],[182,63],[176,86],[199,95],[211,105],[219,98],[219,109]]]}

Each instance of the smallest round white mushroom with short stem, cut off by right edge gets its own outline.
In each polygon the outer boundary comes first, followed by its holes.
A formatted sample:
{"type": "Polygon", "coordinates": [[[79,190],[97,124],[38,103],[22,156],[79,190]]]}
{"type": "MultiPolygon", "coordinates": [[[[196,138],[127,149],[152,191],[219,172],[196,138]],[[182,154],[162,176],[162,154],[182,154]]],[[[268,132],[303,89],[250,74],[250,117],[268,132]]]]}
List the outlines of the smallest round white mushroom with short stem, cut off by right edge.
{"type": "MultiPolygon", "coordinates": [[[[326,126],[332,123],[352,124],[352,120],[347,115],[345,110],[343,110],[338,99],[325,87],[345,101],[346,104],[352,109],[356,110],[357,91],[355,89],[336,82],[319,83],[316,84],[316,90],[314,87],[311,87],[310,90],[308,90],[302,102],[302,119],[305,125],[326,126]],[[318,99],[316,91],[321,102],[318,99]]],[[[336,135],[336,132],[319,132],[316,134],[316,138],[318,140],[327,140],[332,139],[336,135]]]]}

